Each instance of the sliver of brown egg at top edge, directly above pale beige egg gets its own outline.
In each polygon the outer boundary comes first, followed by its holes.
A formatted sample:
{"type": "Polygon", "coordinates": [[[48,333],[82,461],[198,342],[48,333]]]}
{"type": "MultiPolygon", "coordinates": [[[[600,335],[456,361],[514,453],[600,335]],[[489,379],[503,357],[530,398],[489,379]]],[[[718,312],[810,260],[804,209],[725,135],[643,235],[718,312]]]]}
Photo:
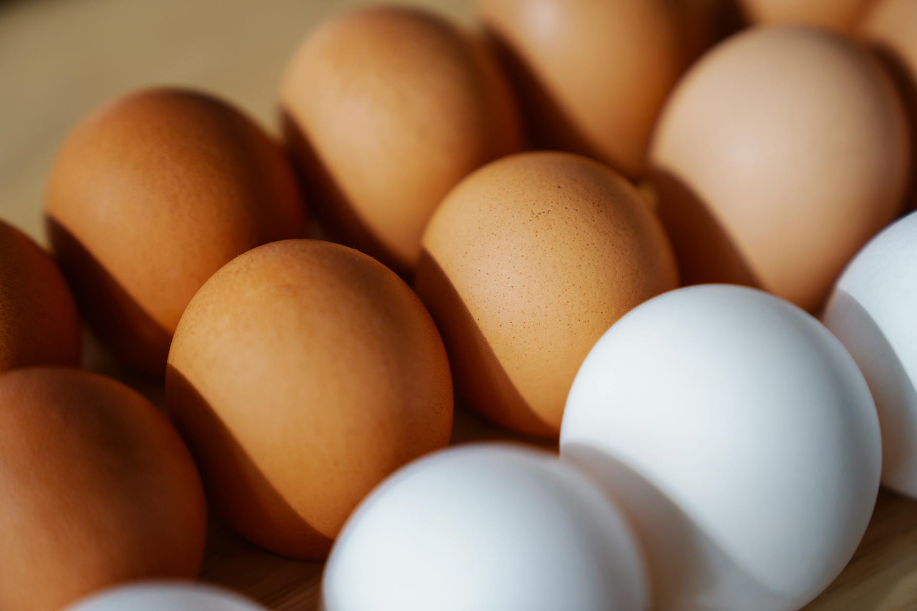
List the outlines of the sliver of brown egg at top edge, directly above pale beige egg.
{"type": "Polygon", "coordinates": [[[875,0],[739,0],[757,24],[802,24],[850,34],[875,0]]]}

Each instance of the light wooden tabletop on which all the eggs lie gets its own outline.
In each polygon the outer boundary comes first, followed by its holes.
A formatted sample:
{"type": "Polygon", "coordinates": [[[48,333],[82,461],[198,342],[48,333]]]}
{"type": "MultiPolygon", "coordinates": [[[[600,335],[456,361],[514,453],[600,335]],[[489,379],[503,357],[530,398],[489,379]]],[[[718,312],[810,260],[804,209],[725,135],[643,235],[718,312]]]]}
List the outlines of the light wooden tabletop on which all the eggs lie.
{"type": "MultiPolygon", "coordinates": [[[[0,0],[0,217],[43,240],[42,185],[61,139],[88,110],[134,87],[204,87],[274,129],[274,92],[297,41],[322,18],[361,4],[368,3],[0,0]]],[[[470,0],[414,4],[470,20],[470,0]]],[[[88,359],[112,371],[101,353],[88,359]]],[[[457,440],[499,435],[459,412],[457,440]]],[[[311,611],[321,570],[257,550],[214,522],[203,578],[272,609],[311,611]]],[[[855,559],[807,609],[917,609],[917,504],[880,494],[855,559]]]]}

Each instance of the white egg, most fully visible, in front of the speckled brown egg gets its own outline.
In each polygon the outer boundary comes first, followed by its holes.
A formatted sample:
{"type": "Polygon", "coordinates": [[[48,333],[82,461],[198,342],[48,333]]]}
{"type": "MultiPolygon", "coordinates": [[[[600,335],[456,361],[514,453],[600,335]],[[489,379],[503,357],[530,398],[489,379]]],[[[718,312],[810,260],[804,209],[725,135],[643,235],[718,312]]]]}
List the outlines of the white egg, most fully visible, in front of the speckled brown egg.
{"type": "Polygon", "coordinates": [[[823,325],[713,284],[660,295],[602,336],[560,455],[633,520],[650,608],[795,611],[856,550],[881,441],[867,383],[823,325]]]}

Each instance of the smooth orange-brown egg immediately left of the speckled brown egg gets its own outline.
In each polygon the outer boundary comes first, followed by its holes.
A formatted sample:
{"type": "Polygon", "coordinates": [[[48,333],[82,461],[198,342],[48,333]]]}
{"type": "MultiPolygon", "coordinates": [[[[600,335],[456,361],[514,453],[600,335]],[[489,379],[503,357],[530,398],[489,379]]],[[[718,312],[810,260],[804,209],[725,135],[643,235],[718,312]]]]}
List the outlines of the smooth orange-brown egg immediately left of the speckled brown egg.
{"type": "Polygon", "coordinates": [[[452,427],[446,351],[420,300],[319,240],[250,250],[204,284],[166,399],[229,525],[297,558],[324,557],[359,500],[452,427]]]}

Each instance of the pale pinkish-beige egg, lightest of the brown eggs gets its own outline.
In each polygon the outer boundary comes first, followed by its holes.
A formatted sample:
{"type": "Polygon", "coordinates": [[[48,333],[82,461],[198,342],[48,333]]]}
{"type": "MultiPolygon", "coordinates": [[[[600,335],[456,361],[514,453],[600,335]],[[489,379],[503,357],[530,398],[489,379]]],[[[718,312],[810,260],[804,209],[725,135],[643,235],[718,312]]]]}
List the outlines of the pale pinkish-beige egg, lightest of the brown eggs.
{"type": "Polygon", "coordinates": [[[679,83],[651,150],[682,280],[818,308],[899,214],[909,157],[900,100],[866,50],[814,28],[727,40],[679,83]]]}

